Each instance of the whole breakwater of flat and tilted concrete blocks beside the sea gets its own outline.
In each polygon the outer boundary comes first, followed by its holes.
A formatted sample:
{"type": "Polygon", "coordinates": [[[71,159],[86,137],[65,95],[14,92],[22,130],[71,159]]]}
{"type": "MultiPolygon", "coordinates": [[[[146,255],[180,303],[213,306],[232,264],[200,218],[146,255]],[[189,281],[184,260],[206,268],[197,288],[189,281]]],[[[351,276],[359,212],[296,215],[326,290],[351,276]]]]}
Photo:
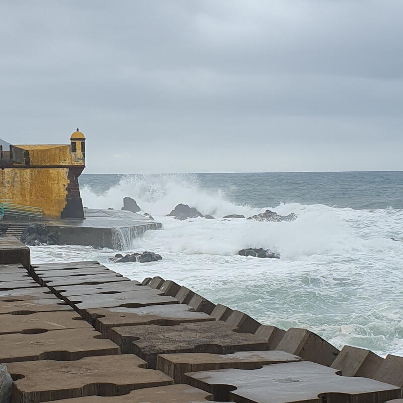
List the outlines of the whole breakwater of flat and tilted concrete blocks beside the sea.
{"type": "Polygon", "coordinates": [[[402,357],[339,352],[306,329],[262,327],[173,281],[129,280],[96,261],[0,265],[0,323],[12,403],[402,397],[402,357]]]}

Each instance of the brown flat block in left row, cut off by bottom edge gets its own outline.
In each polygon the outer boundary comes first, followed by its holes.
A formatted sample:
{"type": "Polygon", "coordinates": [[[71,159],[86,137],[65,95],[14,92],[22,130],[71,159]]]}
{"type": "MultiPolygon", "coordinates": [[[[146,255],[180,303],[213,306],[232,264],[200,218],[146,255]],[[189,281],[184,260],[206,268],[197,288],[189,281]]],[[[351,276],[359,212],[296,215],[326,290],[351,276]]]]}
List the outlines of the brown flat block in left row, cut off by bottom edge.
{"type": "Polygon", "coordinates": [[[132,390],[124,396],[88,396],[54,403],[208,403],[210,393],[183,384],[132,390]]]}

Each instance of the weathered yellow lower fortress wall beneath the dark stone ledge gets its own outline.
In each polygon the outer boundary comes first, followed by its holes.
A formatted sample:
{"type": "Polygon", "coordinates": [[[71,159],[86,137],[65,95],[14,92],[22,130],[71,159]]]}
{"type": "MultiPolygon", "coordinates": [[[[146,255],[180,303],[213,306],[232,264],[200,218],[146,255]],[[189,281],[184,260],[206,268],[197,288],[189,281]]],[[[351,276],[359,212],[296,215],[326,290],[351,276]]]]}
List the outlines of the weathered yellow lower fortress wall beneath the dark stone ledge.
{"type": "Polygon", "coordinates": [[[46,216],[60,217],[66,204],[69,168],[0,169],[0,198],[40,207],[46,216]]]}

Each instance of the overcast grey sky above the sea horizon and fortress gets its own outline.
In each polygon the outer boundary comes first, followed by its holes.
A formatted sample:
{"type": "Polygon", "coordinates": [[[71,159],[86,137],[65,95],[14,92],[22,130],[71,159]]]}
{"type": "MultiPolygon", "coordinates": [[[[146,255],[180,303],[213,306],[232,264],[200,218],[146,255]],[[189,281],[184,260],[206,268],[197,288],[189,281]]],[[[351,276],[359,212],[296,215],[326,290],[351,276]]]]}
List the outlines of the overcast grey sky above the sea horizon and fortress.
{"type": "Polygon", "coordinates": [[[0,137],[84,173],[403,170],[401,0],[0,2],[0,137]]]}

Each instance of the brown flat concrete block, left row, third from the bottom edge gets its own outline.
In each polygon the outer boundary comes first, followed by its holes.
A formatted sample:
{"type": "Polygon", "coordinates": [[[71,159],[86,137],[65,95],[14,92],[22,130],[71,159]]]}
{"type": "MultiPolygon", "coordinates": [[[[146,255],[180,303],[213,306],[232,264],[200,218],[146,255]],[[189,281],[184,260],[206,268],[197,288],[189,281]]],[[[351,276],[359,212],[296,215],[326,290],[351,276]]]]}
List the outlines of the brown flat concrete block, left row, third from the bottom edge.
{"type": "Polygon", "coordinates": [[[3,334],[0,335],[0,362],[65,361],[120,354],[118,346],[100,338],[101,333],[89,328],[52,330],[39,334],[3,334]]]}

